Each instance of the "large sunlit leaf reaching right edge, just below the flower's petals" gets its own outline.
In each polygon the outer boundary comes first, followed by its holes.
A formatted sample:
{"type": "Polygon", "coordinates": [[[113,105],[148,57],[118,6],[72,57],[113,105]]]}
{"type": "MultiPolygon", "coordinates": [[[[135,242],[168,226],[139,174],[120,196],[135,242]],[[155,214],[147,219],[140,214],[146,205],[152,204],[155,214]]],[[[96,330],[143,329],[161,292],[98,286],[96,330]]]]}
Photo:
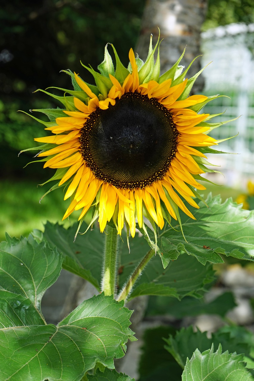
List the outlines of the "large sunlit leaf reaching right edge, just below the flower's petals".
{"type": "MultiPolygon", "coordinates": [[[[221,255],[238,259],[254,260],[254,211],[228,199],[221,202],[220,196],[206,200],[210,210],[201,202],[195,210],[196,220],[182,215],[183,240],[179,225],[165,229],[158,238],[159,249],[163,252],[162,263],[167,266],[172,250],[185,251],[202,264],[207,261],[222,263],[221,255]]],[[[151,234],[152,237],[152,234],[151,234]]]]}

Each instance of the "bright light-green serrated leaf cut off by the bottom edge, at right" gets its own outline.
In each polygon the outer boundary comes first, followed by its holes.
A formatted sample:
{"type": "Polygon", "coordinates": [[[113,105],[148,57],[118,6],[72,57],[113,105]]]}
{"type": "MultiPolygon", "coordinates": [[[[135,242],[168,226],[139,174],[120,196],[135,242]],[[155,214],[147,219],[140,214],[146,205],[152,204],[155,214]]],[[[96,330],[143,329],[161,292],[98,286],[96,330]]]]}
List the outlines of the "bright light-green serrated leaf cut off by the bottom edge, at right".
{"type": "Polygon", "coordinates": [[[222,347],[214,353],[214,346],[201,353],[198,349],[187,359],[182,381],[252,381],[254,378],[244,367],[243,355],[222,353],[222,347]]]}

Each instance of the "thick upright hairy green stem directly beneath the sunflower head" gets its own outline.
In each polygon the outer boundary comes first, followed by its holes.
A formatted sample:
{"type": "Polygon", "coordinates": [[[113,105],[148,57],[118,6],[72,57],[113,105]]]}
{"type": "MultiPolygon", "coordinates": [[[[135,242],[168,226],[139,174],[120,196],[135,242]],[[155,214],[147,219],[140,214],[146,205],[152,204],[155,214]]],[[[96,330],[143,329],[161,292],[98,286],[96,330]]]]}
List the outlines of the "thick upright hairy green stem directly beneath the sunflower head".
{"type": "Polygon", "coordinates": [[[116,290],[116,267],[118,256],[117,230],[109,225],[105,228],[104,264],[101,290],[105,295],[113,295],[116,290]]]}

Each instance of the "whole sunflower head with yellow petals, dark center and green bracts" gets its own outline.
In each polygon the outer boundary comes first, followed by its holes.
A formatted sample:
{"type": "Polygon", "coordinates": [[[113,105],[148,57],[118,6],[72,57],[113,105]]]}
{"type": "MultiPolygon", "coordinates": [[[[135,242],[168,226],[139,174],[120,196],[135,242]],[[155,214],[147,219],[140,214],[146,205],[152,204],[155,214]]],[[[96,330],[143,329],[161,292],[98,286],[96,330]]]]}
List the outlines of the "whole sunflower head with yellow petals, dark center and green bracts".
{"type": "Polygon", "coordinates": [[[130,49],[127,69],[113,46],[114,69],[106,46],[100,72],[85,66],[96,86],[69,70],[74,90],[60,90],[70,96],[44,91],[65,106],[36,110],[49,116],[42,123],[51,135],[35,139],[44,143],[38,155],[44,168],[57,169],[50,180],[59,182],[51,190],[64,186],[64,200],[71,199],[63,219],[80,210],[83,221],[92,209],[91,224],[98,219],[101,232],[113,221],[118,234],[126,224],[132,237],[144,217],[154,231],[171,217],[180,221],[178,208],[194,219],[183,200],[198,208],[193,197],[201,199],[196,189],[206,189],[198,182],[207,171],[204,153],[217,152],[209,148],[217,141],[207,135],[212,116],[198,112],[217,96],[188,96],[202,70],[185,79],[190,66],[183,73],[179,66],[184,52],[160,76],[157,48],[150,41],[145,63],[130,49]]]}

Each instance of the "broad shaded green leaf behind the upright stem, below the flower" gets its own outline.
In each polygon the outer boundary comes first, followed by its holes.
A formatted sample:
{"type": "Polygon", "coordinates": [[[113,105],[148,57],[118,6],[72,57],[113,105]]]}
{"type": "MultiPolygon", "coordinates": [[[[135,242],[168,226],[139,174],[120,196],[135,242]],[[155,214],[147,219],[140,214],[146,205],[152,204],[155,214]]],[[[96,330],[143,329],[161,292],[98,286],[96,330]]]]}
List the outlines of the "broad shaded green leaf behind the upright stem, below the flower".
{"type": "MultiPolygon", "coordinates": [[[[47,223],[43,239],[51,247],[56,245],[58,251],[63,253],[63,267],[66,270],[87,279],[100,290],[104,233],[101,234],[95,227],[93,231],[77,235],[73,242],[76,230],[76,225],[66,231],[63,226],[47,223]]],[[[134,239],[130,239],[130,251],[126,242],[119,239],[119,289],[126,283],[148,249],[144,237],[136,235],[134,239]]],[[[213,271],[208,263],[204,267],[197,264],[195,258],[181,255],[164,270],[159,255],[156,255],[135,284],[130,299],[140,295],[174,296],[178,299],[186,295],[200,297],[204,285],[212,279],[213,271]]]]}

